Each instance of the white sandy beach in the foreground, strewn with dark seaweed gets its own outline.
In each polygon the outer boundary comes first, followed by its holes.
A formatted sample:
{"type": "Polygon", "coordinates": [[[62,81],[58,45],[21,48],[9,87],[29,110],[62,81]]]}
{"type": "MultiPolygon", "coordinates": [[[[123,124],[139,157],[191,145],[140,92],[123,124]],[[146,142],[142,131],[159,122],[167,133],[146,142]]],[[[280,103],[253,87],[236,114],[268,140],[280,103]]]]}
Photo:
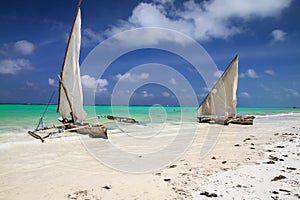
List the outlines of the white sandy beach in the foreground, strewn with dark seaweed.
{"type": "Polygon", "coordinates": [[[0,199],[300,198],[299,114],[256,118],[254,126],[185,123],[179,134],[192,142],[187,151],[175,146],[155,153],[171,146],[176,126],[148,138],[125,130],[109,140],[41,143],[28,135],[32,142],[1,145],[0,199]],[[184,137],[188,131],[196,131],[194,140],[184,137]],[[96,151],[104,161],[95,159],[96,151]]]}

